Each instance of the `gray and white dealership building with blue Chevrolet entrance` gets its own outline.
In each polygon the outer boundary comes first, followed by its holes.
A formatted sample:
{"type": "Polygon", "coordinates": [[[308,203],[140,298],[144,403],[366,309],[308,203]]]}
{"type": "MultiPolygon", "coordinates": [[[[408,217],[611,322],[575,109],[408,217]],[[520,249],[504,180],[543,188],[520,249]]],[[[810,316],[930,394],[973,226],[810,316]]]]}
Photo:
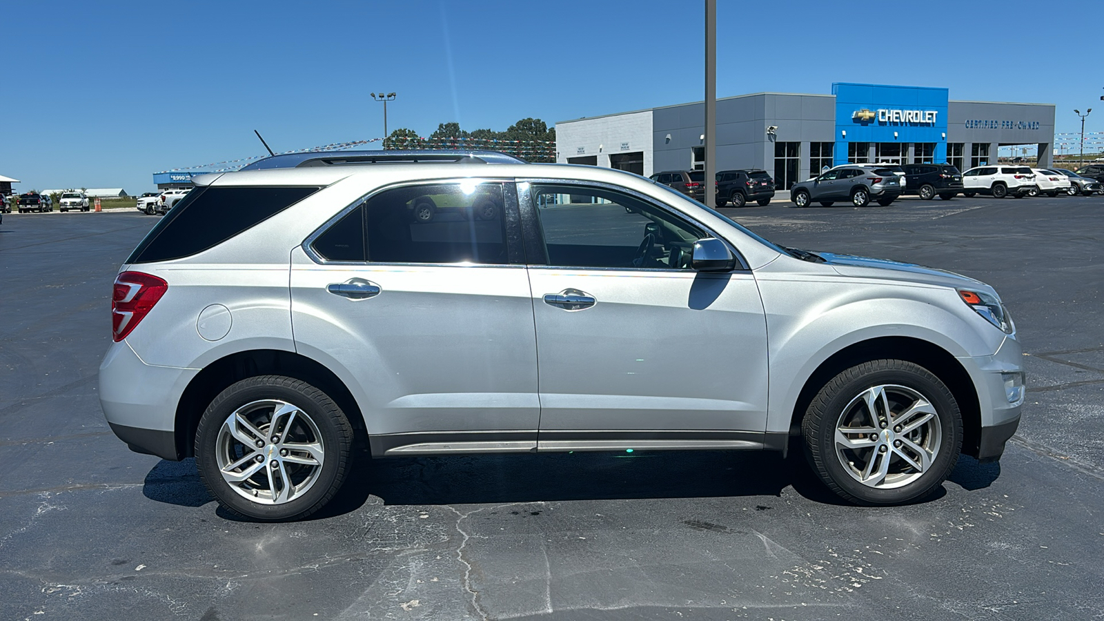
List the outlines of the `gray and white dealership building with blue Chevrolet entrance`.
{"type": "MultiPolygon", "coordinates": [[[[650,176],[704,169],[703,102],[563,120],[556,161],[650,176]]],[[[947,88],[835,83],[830,95],[755,93],[716,101],[716,170],[762,168],[779,188],[847,162],[966,170],[1022,147],[1051,165],[1054,105],[964,102],[947,88]]]]}

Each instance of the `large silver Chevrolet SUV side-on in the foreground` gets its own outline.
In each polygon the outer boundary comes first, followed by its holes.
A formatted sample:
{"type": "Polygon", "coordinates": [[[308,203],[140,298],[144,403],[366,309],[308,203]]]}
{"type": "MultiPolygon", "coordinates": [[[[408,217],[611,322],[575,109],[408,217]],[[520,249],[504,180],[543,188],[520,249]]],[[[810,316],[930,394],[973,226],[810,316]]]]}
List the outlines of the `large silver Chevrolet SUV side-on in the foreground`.
{"type": "Polygon", "coordinates": [[[195,185],[119,271],[99,394],[132,450],[194,456],[251,518],[319,509],[363,449],[785,453],[797,435],[841,497],[894,504],[959,452],[998,459],[1019,422],[1021,349],[988,285],[775,245],[635,175],[195,185]],[[418,218],[426,198],[447,209],[418,218]]]}

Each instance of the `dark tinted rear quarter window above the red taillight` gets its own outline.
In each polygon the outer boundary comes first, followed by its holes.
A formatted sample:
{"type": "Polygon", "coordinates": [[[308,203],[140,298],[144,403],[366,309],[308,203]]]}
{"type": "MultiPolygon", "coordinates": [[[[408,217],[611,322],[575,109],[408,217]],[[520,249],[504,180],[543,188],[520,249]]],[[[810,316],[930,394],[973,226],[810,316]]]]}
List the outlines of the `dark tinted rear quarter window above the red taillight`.
{"type": "Polygon", "coordinates": [[[127,263],[180,259],[214,248],[318,188],[197,188],[161,219],[127,263]]]}

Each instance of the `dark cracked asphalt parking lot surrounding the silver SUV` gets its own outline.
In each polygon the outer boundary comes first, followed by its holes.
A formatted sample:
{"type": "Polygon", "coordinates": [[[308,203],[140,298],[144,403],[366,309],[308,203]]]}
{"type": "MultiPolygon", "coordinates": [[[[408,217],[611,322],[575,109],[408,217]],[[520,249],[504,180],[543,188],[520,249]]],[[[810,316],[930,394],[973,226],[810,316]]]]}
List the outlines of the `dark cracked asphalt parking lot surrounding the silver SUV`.
{"type": "Polygon", "coordinates": [[[723,211],[992,284],[1030,385],[1001,462],[857,508],[767,454],[380,460],[316,519],[235,520],[99,410],[110,283],[156,218],[6,214],[0,619],[1104,618],[1104,199],[723,211]]]}

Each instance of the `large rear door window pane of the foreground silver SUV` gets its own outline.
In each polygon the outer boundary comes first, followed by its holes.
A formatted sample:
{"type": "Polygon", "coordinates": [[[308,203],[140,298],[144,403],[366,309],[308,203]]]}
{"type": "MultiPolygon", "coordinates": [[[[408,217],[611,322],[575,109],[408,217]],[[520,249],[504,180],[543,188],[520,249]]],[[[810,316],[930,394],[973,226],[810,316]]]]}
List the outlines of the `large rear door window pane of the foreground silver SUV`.
{"type": "Polygon", "coordinates": [[[501,183],[386,190],[365,203],[368,260],[376,263],[506,264],[501,183]]]}

